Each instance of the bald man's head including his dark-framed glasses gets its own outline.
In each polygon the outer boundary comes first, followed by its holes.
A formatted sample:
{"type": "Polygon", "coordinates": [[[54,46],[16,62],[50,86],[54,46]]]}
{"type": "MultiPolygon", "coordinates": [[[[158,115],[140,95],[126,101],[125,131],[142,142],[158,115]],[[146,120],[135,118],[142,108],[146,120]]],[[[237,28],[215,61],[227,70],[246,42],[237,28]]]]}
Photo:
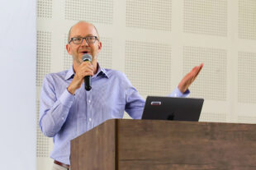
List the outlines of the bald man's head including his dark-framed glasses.
{"type": "Polygon", "coordinates": [[[99,40],[96,27],[86,21],[79,21],[73,25],[69,30],[66,49],[73,56],[73,64],[75,65],[83,62],[84,53],[92,55],[92,62],[97,62],[97,54],[102,49],[102,42],[99,40]]]}

